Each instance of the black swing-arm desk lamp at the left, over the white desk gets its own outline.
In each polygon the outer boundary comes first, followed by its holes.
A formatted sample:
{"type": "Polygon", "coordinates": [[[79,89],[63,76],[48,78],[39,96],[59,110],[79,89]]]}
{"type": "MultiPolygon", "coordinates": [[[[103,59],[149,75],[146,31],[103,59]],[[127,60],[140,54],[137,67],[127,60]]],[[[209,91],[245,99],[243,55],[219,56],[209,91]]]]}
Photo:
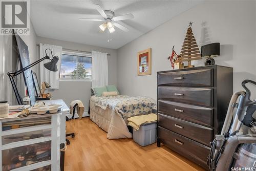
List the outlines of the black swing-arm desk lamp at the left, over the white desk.
{"type": "MultiPolygon", "coordinates": [[[[50,50],[50,51],[51,51],[51,54],[52,54],[52,50],[51,50],[51,49],[46,49],[46,51],[47,51],[47,50],[50,50]]],[[[46,52],[46,51],[45,51],[45,52],[46,52]]],[[[47,55],[47,53],[46,53],[46,56],[45,56],[45,57],[43,57],[43,58],[41,58],[41,59],[39,59],[39,60],[37,60],[37,61],[31,63],[31,64],[28,65],[27,67],[22,68],[22,69],[20,69],[20,70],[18,70],[18,71],[16,71],[16,72],[11,71],[11,72],[8,72],[8,73],[7,73],[7,75],[9,76],[9,78],[10,78],[10,80],[11,80],[12,88],[13,88],[13,90],[14,90],[14,93],[15,93],[15,96],[16,96],[16,98],[17,98],[17,101],[18,101],[18,104],[19,104],[19,105],[20,105],[20,104],[23,104],[23,101],[22,101],[22,97],[20,97],[20,94],[19,94],[19,92],[18,92],[18,89],[17,89],[16,83],[15,83],[15,81],[14,81],[14,78],[15,78],[17,75],[19,75],[19,74],[23,73],[24,71],[30,69],[31,67],[33,67],[34,65],[36,65],[37,63],[39,63],[39,62],[41,62],[41,61],[43,61],[43,60],[45,60],[45,59],[50,59],[50,60],[51,60],[50,62],[47,62],[47,63],[44,64],[44,66],[45,66],[46,69],[48,69],[48,70],[50,70],[50,71],[53,71],[53,72],[58,71],[58,68],[57,68],[57,62],[58,62],[58,60],[59,60],[58,56],[53,56],[53,55],[52,55],[52,59],[51,59],[51,58],[47,55]]]]}

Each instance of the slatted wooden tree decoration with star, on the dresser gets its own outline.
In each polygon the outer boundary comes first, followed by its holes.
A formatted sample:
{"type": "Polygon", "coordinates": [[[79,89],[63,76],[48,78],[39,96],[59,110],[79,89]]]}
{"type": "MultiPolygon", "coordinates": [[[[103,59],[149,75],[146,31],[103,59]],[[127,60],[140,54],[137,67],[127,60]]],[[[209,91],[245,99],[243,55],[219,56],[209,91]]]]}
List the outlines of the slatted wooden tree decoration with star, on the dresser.
{"type": "Polygon", "coordinates": [[[188,62],[188,66],[185,66],[185,68],[195,67],[195,66],[191,66],[191,60],[202,59],[201,53],[197,46],[196,38],[194,37],[193,31],[191,28],[192,24],[193,23],[189,22],[187,33],[186,33],[183,46],[181,48],[180,55],[179,55],[179,62],[181,61],[188,62]]]}

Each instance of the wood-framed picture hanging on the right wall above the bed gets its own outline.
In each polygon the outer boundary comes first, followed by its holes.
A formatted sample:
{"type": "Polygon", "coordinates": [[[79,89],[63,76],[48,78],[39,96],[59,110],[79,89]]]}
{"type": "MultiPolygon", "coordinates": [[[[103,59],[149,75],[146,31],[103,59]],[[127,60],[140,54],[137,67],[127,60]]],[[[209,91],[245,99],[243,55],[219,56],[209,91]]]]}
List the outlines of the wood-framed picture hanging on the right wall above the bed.
{"type": "Polygon", "coordinates": [[[151,48],[138,52],[138,75],[151,75],[151,48]]]}

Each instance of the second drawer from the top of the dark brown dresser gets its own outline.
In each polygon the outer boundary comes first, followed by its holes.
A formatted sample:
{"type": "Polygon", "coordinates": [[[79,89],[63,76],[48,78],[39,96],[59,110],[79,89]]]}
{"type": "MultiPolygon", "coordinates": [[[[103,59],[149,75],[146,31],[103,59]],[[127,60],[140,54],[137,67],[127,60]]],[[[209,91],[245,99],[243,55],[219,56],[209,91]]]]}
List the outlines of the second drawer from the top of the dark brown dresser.
{"type": "Polygon", "coordinates": [[[158,87],[158,98],[162,100],[212,106],[212,89],[158,87]]]}

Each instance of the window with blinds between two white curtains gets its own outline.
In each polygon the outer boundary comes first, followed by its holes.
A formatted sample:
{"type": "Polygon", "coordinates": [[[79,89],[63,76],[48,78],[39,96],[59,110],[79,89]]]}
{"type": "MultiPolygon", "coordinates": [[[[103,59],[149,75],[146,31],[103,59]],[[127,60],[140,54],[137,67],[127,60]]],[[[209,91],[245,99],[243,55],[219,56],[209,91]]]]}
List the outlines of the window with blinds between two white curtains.
{"type": "Polygon", "coordinates": [[[59,78],[61,80],[92,80],[92,57],[88,56],[62,53],[59,78]]]}

